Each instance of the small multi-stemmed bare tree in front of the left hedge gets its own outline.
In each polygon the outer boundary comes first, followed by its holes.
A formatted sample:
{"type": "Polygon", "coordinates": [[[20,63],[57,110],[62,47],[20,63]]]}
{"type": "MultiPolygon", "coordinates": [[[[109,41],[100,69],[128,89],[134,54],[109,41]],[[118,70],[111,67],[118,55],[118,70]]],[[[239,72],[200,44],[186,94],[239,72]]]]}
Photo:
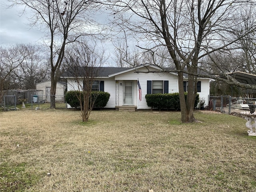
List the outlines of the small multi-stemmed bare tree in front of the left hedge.
{"type": "Polygon", "coordinates": [[[77,98],[80,101],[83,122],[88,122],[96,100],[96,96],[92,97],[92,90],[99,88],[100,80],[97,77],[105,62],[102,50],[100,51],[95,45],[80,43],[72,46],[65,56],[67,71],[74,78],[70,86],[74,86],[74,90],[79,90],[77,98]]]}

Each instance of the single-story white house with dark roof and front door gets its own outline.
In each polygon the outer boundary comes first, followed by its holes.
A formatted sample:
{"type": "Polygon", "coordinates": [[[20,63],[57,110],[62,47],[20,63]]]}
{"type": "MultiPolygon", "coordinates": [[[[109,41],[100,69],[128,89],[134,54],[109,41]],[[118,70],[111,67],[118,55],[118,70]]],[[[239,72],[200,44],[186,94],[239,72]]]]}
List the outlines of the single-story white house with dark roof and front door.
{"type": "MultiPolygon", "coordinates": [[[[132,106],[136,109],[150,109],[146,103],[146,94],[175,93],[178,89],[178,74],[173,72],[156,72],[161,69],[157,66],[141,65],[134,68],[102,67],[94,81],[94,90],[110,93],[110,99],[105,108],[122,108],[132,106]],[[154,72],[148,72],[154,71],[154,72]],[[139,100],[139,80],[142,99],[139,100]]],[[[78,83],[71,75],[65,72],[62,78],[67,79],[67,91],[78,90],[78,83]]],[[[184,90],[187,89],[188,76],[184,74],[184,90]]],[[[210,95],[210,79],[198,77],[198,94],[208,104],[210,95]]]]}

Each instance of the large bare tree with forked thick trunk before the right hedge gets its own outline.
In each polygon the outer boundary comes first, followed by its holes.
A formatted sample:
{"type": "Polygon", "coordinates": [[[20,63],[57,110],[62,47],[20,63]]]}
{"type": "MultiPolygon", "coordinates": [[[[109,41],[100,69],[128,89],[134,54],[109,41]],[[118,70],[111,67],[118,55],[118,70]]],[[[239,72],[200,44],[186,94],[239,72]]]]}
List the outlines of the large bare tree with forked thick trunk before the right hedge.
{"type": "MultiPolygon", "coordinates": [[[[230,48],[242,36],[231,36],[235,20],[242,21],[239,9],[252,0],[108,0],[115,23],[126,26],[149,42],[148,50],[164,46],[178,72],[182,122],[196,122],[194,101],[197,92],[199,63],[204,56],[230,48]],[[122,23],[120,23],[122,22],[122,23]],[[154,44],[154,46],[152,46],[154,44]],[[188,97],[185,100],[183,73],[188,74],[188,97]]],[[[255,26],[250,29],[255,30],[255,26]]],[[[164,70],[164,69],[163,69],[164,70]]],[[[169,70],[170,71],[170,70],[169,70]]],[[[212,75],[213,77],[213,75],[212,75]]]]}

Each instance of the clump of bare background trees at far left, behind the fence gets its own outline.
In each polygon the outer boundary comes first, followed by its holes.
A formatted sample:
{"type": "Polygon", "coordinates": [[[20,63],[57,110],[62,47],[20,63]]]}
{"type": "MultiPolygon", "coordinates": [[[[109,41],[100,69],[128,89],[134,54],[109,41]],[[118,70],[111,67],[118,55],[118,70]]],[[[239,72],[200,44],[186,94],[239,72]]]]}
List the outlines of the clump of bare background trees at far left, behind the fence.
{"type": "Polygon", "coordinates": [[[0,100],[6,90],[35,89],[35,83],[47,79],[48,69],[39,46],[0,46],[0,100]]]}

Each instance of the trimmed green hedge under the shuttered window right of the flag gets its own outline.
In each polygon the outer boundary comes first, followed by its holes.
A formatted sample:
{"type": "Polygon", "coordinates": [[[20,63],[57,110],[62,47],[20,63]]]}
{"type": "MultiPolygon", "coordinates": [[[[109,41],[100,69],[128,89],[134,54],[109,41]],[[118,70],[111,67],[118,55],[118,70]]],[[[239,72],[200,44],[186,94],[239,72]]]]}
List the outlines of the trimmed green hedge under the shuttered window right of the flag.
{"type": "MultiPolygon", "coordinates": [[[[185,100],[188,93],[185,92],[185,100]]],[[[147,105],[151,108],[161,109],[174,109],[180,110],[180,94],[179,93],[158,93],[158,94],[146,94],[145,96],[147,105]]],[[[194,108],[196,108],[199,102],[199,94],[196,94],[196,100],[194,108]]]]}

